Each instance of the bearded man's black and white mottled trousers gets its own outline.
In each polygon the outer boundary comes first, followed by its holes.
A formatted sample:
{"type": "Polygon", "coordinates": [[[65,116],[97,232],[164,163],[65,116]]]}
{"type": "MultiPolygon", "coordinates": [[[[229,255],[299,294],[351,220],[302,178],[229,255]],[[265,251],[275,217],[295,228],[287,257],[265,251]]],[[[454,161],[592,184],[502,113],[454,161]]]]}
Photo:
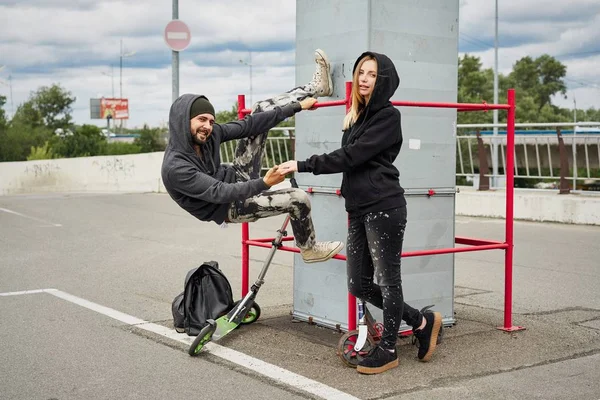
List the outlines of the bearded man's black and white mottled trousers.
{"type": "MultiPolygon", "coordinates": [[[[282,107],[313,94],[314,90],[308,86],[297,87],[282,95],[257,102],[252,113],[272,110],[276,106],[282,107]]],[[[238,181],[260,177],[268,134],[263,132],[238,141],[233,161],[238,181]]],[[[296,245],[301,249],[313,247],[315,229],[310,215],[310,200],[302,189],[269,190],[249,199],[233,202],[229,208],[228,219],[230,222],[254,222],[259,218],[281,214],[290,214],[296,245]]]]}

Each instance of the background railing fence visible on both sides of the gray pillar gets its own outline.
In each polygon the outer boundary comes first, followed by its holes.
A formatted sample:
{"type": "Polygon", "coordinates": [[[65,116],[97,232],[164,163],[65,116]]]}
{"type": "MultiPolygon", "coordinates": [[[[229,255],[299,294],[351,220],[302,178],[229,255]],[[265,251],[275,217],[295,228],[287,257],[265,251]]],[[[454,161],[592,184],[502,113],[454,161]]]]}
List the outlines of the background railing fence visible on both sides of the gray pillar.
{"type": "MultiPolygon", "coordinates": [[[[495,136],[492,131],[483,130],[493,126],[493,124],[457,126],[456,176],[459,183],[466,184],[473,178],[478,179],[482,162],[487,166],[493,164],[494,144],[497,145],[499,152],[497,167],[499,173],[494,175],[493,171],[490,173],[486,171],[483,175],[489,178],[503,176],[503,171],[506,169],[506,132],[499,131],[495,136]]],[[[558,180],[562,177],[572,182],[571,189],[600,190],[598,187],[600,186],[600,123],[516,124],[516,127],[527,128],[515,132],[515,178],[529,180],[528,183],[520,182],[521,185],[558,188],[558,180]],[[561,130],[568,127],[574,129],[561,130]],[[554,128],[554,130],[531,128],[554,128]],[[566,160],[561,160],[561,137],[564,145],[563,157],[566,157],[566,160]],[[566,161],[566,168],[565,165],[561,166],[561,161],[563,163],[566,161]],[[574,165],[577,168],[573,168],[574,165]]],[[[263,170],[294,159],[294,141],[294,127],[272,129],[265,148],[263,170]]],[[[223,162],[232,162],[234,155],[235,143],[233,141],[223,143],[221,146],[223,162]]]]}

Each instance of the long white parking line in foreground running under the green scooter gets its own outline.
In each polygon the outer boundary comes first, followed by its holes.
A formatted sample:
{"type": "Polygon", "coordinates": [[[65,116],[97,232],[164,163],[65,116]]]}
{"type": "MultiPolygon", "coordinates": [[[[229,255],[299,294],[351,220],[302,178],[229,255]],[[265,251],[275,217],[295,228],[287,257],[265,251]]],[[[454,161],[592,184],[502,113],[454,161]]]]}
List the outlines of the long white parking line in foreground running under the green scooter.
{"type": "MultiPolygon", "coordinates": [[[[105,307],[97,303],[93,303],[81,297],[73,296],[72,294],[63,292],[58,289],[39,289],[24,290],[20,292],[5,292],[0,293],[0,296],[19,296],[35,293],[51,294],[70,303],[77,304],[81,307],[85,307],[99,314],[113,318],[117,321],[123,322],[128,325],[135,325],[139,329],[144,329],[148,332],[155,333],[157,335],[166,337],[177,342],[184,343],[186,345],[191,345],[194,341],[194,337],[190,337],[187,334],[177,333],[173,329],[167,328],[166,326],[144,321],[143,319],[139,319],[137,317],[117,311],[115,309],[105,307]]],[[[288,386],[301,389],[315,396],[332,400],[359,400],[357,397],[332,388],[331,386],[327,386],[321,382],[317,382],[315,380],[306,378],[302,375],[298,375],[276,365],[248,356],[244,353],[240,353],[239,351],[220,346],[216,343],[207,343],[204,348],[205,350],[203,351],[208,351],[212,355],[215,355],[242,367],[248,368],[256,373],[274,379],[277,382],[281,382],[288,386]]]]}

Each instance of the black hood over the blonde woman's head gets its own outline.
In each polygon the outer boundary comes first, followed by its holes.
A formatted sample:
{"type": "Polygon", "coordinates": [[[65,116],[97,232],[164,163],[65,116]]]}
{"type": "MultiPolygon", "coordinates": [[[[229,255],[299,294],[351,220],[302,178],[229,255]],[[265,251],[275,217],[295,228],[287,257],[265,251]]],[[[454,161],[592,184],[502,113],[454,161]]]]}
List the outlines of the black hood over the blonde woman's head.
{"type": "Polygon", "coordinates": [[[390,103],[390,99],[396,93],[398,85],[400,85],[400,77],[394,63],[388,56],[372,51],[366,51],[358,57],[354,63],[354,68],[352,68],[352,75],[354,75],[360,60],[367,55],[377,60],[377,80],[369,104],[367,104],[367,113],[374,113],[390,103]]]}

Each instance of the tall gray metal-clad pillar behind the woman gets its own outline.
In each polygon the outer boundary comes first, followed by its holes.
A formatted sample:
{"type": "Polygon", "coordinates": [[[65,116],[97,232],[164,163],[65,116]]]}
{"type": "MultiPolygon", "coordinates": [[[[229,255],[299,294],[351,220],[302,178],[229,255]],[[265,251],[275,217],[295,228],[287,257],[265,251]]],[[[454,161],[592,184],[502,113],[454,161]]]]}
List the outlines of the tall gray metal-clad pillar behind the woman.
{"type": "MultiPolygon", "coordinates": [[[[345,0],[296,2],[296,83],[310,80],[313,54],[322,48],[332,64],[334,95],[345,98],[356,58],[367,50],[385,53],[400,75],[392,100],[456,102],[458,0],[345,0]]],[[[396,166],[407,190],[408,226],[404,251],[454,246],[456,110],[400,107],[404,144],[396,166]],[[439,195],[423,194],[434,189],[439,195]]],[[[345,107],[320,108],[296,117],[296,159],[339,148],[345,107]]],[[[346,241],[344,201],[334,194],[341,174],[297,174],[301,187],[314,187],[313,217],[320,240],[346,241]]],[[[347,323],[343,261],[306,265],[294,258],[293,314],[325,326],[347,323]]],[[[454,256],[402,261],[403,290],[413,307],[436,304],[453,320],[454,256]]]]}

